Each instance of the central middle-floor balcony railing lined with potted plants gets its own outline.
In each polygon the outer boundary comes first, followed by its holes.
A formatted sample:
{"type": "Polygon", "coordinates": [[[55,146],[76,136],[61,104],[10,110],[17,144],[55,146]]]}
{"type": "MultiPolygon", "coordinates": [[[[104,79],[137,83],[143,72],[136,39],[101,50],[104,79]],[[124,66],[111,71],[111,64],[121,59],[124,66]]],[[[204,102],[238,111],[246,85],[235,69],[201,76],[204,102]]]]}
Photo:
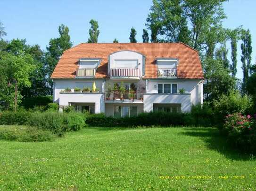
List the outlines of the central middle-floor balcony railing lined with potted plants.
{"type": "Polygon", "coordinates": [[[143,101],[143,93],[132,93],[132,92],[105,92],[105,100],[109,101],[143,101]]]}

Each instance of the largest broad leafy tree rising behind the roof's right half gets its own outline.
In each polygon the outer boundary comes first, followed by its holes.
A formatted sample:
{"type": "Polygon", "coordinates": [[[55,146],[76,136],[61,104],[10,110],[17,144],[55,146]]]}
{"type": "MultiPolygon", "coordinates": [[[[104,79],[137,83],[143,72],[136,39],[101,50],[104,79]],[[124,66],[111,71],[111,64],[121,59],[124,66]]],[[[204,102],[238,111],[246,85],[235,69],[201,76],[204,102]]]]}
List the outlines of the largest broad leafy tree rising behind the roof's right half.
{"type": "Polygon", "coordinates": [[[224,1],[153,0],[146,26],[151,34],[154,30],[154,35],[162,37],[159,41],[183,42],[198,51],[209,50],[213,55],[215,44],[227,39],[222,26],[226,18],[224,1]]]}

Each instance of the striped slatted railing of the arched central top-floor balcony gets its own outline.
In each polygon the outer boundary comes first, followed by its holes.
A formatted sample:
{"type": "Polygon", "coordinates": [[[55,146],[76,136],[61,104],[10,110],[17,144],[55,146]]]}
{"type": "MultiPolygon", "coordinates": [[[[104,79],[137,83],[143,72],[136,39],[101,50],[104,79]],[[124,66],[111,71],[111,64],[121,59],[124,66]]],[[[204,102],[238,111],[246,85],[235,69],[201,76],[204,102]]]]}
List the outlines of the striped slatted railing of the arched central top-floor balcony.
{"type": "Polygon", "coordinates": [[[139,77],[140,76],[140,70],[139,69],[110,69],[110,76],[113,77],[139,77]]]}

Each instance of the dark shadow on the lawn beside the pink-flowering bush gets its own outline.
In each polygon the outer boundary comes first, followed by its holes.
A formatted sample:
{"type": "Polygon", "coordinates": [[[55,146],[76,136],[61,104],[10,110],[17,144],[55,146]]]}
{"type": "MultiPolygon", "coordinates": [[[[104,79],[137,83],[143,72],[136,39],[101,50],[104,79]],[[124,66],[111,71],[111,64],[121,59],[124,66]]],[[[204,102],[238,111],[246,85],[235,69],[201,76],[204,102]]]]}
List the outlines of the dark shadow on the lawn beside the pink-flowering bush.
{"type": "Polygon", "coordinates": [[[241,151],[232,148],[227,142],[225,136],[221,135],[218,129],[215,128],[184,128],[186,132],[181,132],[183,135],[201,138],[206,146],[223,154],[231,160],[250,160],[251,155],[242,153],[241,151]]]}

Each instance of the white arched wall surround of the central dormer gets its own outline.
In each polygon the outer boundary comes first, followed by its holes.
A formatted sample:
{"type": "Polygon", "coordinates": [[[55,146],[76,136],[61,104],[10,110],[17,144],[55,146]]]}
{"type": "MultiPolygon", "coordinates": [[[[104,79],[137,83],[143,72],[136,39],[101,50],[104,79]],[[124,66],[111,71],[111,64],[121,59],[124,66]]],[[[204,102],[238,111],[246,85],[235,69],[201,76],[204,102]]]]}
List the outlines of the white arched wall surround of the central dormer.
{"type": "Polygon", "coordinates": [[[109,64],[107,68],[108,75],[110,74],[110,69],[114,68],[115,60],[138,60],[138,68],[140,70],[140,75],[142,74],[142,65],[143,65],[143,55],[140,53],[132,52],[132,51],[119,51],[116,53],[112,53],[109,55],[109,64]]]}

